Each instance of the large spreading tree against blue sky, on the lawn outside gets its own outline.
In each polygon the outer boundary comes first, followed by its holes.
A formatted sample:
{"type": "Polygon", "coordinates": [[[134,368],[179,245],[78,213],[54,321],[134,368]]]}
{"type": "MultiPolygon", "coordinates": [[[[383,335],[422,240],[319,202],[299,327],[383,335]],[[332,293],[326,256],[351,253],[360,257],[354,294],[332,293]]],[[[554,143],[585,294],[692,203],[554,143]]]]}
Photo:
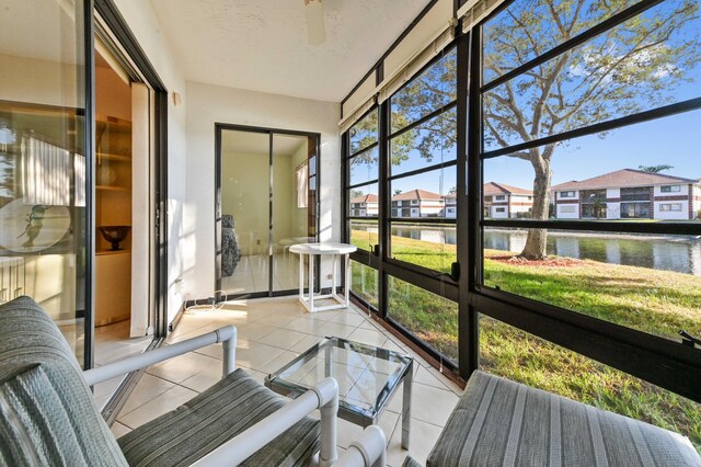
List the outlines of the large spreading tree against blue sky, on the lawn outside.
{"type": "MultiPolygon", "coordinates": [[[[484,27],[486,82],[624,10],[631,0],[517,0],[484,27]]],[[[674,100],[699,62],[697,0],[667,0],[483,96],[487,150],[654,109],[674,100]]],[[[558,144],[509,156],[533,169],[532,217],[549,215],[558,144]]],[[[584,163],[584,161],[583,161],[584,163]]],[[[547,231],[530,229],[521,257],[545,257],[547,231]]]]}

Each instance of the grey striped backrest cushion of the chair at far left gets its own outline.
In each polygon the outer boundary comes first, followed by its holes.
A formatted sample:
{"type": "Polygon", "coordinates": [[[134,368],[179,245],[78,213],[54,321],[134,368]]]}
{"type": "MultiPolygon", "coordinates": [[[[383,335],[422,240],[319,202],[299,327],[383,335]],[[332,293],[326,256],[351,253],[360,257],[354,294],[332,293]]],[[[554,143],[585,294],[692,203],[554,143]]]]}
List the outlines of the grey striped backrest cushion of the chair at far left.
{"type": "Polygon", "coordinates": [[[0,305],[0,465],[127,465],[64,335],[28,297],[0,305]]]}

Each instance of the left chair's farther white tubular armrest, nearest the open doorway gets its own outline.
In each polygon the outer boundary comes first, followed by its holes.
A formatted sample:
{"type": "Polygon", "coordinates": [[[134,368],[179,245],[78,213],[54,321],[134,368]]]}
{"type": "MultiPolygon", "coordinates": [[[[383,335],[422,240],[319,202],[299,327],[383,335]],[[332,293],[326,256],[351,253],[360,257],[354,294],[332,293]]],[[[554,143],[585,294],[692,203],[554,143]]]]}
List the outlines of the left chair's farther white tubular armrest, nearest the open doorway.
{"type": "Polygon", "coordinates": [[[160,349],[143,352],[139,355],[129,356],[106,365],[87,369],[83,372],[83,377],[85,378],[88,386],[93,386],[116,376],[145,368],[153,365],[154,363],[163,362],[174,356],[219,342],[223,345],[222,374],[226,376],[235,369],[237,328],[233,326],[225,326],[215,331],[187,339],[172,345],[162,346],[160,349]]]}

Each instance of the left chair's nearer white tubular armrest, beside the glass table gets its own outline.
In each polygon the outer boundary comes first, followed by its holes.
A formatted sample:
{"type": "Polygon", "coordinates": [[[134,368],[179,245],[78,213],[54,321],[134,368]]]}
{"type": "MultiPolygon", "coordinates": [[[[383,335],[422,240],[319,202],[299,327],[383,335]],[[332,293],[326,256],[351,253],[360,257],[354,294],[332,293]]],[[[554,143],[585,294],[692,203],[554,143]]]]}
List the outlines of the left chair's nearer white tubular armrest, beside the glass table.
{"type": "Polygon", "coordinates": [[[338,384],[333,378],[322,379],[297,399],[229,440],[192,466],[239,465],[317,409],[321,409],[319,466],[331,466],[337,458],[335,415],[338,411],[338,384]]]}

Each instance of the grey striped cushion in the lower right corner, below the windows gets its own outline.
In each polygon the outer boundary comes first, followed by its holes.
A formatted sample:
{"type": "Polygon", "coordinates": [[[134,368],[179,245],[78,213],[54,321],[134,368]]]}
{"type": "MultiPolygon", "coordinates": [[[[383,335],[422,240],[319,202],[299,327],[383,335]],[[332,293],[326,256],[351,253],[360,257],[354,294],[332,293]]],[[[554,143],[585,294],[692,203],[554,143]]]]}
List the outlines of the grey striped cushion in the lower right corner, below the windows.
{"type": "Polygon", "coordinates": [[[689,440],[474,372],[428,466],[700,466],[689,440]]]}

